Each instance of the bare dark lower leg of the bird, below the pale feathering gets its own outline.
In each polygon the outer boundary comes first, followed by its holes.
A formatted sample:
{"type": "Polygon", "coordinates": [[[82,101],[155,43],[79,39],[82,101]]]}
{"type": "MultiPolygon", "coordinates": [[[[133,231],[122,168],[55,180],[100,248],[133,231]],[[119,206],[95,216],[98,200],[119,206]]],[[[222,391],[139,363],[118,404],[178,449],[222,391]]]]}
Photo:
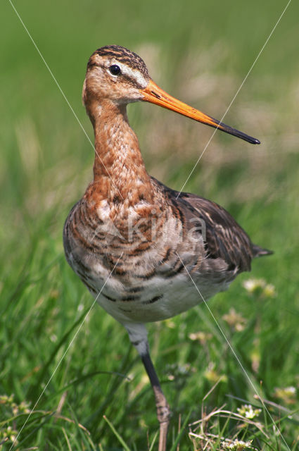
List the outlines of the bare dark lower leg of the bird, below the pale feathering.
{"type": "Polygon", "coordinates": [[[155,395],[155,407],[157,408],[157,417],[160,423],[159,451],[166,451],[167,430],[170,424],[170,407],[160,386],[149,352],[147,351],[146,354],[141,355],[141,359],[144,362],[144,368],[146,369],[146,373],[148,373],[148,378],[151,381],[155,395]]]}

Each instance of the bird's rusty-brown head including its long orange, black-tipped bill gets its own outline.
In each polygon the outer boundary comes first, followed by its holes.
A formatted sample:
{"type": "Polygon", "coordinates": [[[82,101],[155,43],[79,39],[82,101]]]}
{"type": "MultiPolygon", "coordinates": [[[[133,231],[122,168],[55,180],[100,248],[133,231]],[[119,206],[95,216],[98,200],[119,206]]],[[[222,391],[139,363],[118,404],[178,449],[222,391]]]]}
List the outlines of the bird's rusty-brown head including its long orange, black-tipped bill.
{"type": "Polygon", "coordinates": [[[219,128],[251,144],[260,144],[256,138],[231,128],[167,94],[151,80],[143,59],[118,45],[101,47],[89,58],[82,100],[87,111],[91,110],[91,105],[93,108],[100,106],[104,100],[118,105],[149,101],[195,121],[219,128]]]}

